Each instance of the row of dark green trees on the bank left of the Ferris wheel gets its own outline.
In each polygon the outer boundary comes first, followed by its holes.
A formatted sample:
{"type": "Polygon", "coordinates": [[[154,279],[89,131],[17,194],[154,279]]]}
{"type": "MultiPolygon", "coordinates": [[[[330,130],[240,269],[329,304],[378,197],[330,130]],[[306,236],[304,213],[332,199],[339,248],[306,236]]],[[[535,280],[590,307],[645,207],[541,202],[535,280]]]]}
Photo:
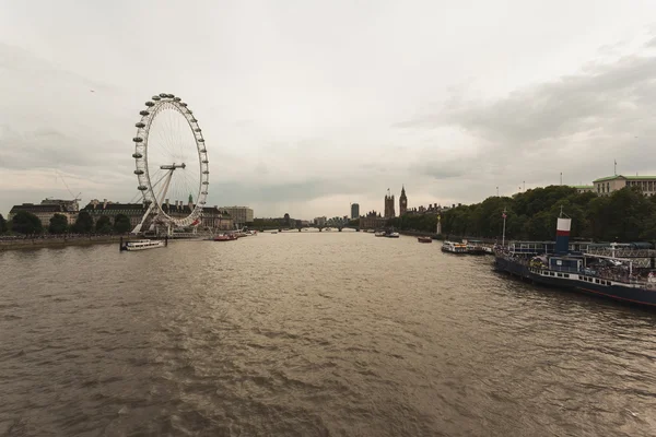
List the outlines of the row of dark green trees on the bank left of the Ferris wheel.
{"type": "Polygon", "coordinates": [[[69,225],[66,215],[55,214],[50,217],[48,226],[44,226],[40,218],[28,211],[16,212],[10,221],[0,214],[0,234],[126,234],[131,228],[130,218],[125,214],[117,214],[114,222],[109,216],[101,215],[94,224],[91,214],[81,211],[72,225],[69,225]]]}

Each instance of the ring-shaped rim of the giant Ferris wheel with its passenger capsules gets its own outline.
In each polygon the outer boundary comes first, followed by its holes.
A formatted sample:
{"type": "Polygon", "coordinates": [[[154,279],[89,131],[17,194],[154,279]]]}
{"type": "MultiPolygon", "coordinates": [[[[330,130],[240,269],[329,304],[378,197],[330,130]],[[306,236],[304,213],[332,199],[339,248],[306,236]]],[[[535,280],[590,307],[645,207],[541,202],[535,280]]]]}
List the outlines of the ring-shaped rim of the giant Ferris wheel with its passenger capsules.
{"type": "MultiPolygon", "coordinates": [[[[137,135],[133,138],[134,141],[134,158],[137,178],[139,181],[138,189],[142,192],[145,202],[151,202],[156,209],[156,215],[160,220],[175,226],[184,227],[192,225],[202,214],[202,210],[207,203],[208,186],[209,186],[209,160],[207,154],[207,146],[204,144],[204,138],[202,135],[202,129],[194,115],[194,111],[188,107],[181,98],[176,97],[173,94],[162,93],[155,95],[151,101],[145,103],[147,108],[141,110],[140,121],[136,123],[137,135]],[[173,109],[185,118],[191,133],[194,134],[194,141],[196,144],[196,152],[198,155],[198,172],[199,172],[199,185],[196,198],[196,204],[194,209],[189,211],[189,215],[185,217],[174,217],[169,215],[171,206],[164,211],[162,202],[157,199],[154,187],[151,180],[150,167],[148,164],[148,151],[149,151],[149,139],[150,130],[153,121],[156,119],[165,109],[173,109]]],[[[174,163],[175,165],[175,163],[174,163]]],[[[185,168],[186,164],[183,164],[185,168]]]]}

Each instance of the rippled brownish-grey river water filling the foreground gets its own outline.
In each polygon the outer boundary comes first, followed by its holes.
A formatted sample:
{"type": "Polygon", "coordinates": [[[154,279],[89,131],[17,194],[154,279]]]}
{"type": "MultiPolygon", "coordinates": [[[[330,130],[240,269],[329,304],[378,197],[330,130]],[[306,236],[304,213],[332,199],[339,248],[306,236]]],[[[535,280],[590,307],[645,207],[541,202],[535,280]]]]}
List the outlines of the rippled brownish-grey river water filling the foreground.
{"type": "Polygon", "coordinates": [[[0,252],[0,435],[656,435],[656,314],[491,261],[347,232],[0,252]]]}

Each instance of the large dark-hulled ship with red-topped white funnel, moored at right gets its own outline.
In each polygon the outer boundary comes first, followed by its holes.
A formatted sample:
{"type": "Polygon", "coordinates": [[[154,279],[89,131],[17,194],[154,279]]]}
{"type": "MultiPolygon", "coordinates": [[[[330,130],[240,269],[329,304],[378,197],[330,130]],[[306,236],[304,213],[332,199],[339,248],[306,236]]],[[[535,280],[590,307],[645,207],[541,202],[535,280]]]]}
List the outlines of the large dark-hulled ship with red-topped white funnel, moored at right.
{"type": "Polygon", "coordinates": [[[514,241],[496,247],[495,270],[541,285],[656,308],[656,270],[652,268],[656,251],[623,250],[618,245],[605,251],[571,250],[571,222],[561,211],[553,246],[514,241]]]}

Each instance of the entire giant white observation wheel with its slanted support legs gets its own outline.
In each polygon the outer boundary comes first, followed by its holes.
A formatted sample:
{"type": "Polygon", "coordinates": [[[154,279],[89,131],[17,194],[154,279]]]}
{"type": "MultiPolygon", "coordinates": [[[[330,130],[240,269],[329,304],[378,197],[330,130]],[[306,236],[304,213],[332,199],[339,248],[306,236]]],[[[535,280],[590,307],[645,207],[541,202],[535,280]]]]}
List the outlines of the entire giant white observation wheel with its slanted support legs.
{"type": "Polygon", "coordinates": [[[139,113],[134,174],[148,209],[132,231],[197,226],[208,196],[210,169],[202,130],[180,97],[162,93],[139,113]]]}

